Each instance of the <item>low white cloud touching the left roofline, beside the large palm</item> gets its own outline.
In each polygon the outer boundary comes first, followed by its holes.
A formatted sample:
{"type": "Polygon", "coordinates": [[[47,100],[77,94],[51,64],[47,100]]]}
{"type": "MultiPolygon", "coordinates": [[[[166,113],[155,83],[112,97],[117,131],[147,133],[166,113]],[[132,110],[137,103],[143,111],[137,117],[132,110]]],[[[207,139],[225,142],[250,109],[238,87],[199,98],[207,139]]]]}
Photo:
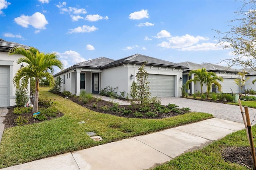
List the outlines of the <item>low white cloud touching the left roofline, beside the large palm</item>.
{"type": "Polygon", "coordinates": [[[76,51],[65,51],[64,53],[55,52],[59,55],[59,59],[62,61],[64,68],[68,68],[76,63],[86,61],[78,52],[76,51]]]}

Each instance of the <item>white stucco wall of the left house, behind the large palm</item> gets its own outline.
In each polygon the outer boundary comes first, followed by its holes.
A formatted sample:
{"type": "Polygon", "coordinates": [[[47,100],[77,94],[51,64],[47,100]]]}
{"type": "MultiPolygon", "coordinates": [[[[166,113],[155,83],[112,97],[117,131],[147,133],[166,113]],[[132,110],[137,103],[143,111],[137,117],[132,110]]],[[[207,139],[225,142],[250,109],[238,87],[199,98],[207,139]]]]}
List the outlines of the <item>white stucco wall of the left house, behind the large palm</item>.
{"type": "MultiPolygon", "coordinates": [[[[16,87],[13,85],[13,77],[16,75],[16,72],[18,69],[20,69],[20,65],[23,64],[24,66],[26,63],[20,63],[17,64],[17,60],[21,57],[24,57],[23,55],[11,55],[9,56],[6,52],[0,52],[0,65],[9,65],[10,66],[10,106],[15,106],[15,91],[16,87]]],[[[30,84],[28,84],[28,90],[30,91],[30,84]]],[[[30,93],[27,93],[28,96],[30,96],[30,93]]]]}

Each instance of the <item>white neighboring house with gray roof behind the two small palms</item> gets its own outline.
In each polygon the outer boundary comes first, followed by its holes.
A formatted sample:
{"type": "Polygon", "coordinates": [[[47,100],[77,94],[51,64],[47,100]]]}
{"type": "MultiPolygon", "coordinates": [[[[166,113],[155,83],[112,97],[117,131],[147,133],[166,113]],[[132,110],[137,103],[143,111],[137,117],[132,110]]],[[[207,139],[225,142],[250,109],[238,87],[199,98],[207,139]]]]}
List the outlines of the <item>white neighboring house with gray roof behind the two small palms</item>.
{"type": "MultiPolygon", "coordinates": [[[[183,71],[183,84],[185,84],[186,81],[188,81],[189,79],[194,78],[194,74],[192,74],[191,77],[188,76],[189,71],[206,68],[206,71],[212,71],[216,73],[217,76],[223,78],[223,82],[220,82],[220,84],[222,85],[222,93],[240,93],[241,91],[240,87],[235,83],[235,79],[241,78],[238,75],[238,72],[241,72],[242,70],[232,68],[228,69],[227,67],[210,63],[196,64],[186,61],[179,64],[188,67],[188,69],[184,69],[183,71]]],[[[201,87],[199,82],[196,84],[191,83],[189,89],[187,89],[187,92],[191,94],[198,93],[198,91],[201,93],[201,87]]],[[[205,85],[203,86],[203,92],[206,92],[205,85]]],[[[215,87],[215,85],[212,86],[211,92],[218,93],[218,89],[215,87]]]]}

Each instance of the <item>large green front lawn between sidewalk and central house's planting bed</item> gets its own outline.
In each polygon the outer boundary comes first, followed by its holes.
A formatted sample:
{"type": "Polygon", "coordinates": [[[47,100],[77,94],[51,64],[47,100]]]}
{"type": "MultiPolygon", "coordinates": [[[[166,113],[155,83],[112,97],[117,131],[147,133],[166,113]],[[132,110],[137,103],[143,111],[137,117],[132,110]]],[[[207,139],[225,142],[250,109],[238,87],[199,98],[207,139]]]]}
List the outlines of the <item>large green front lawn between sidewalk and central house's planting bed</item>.
{"type": "Polygon", "coordinates": [[[0,144],[0,168],[213,117],[206,113],[187,113],[166,119],[122,118],[90,111],[48,92],[45,88],[40,90],[40,97],[51,98],[64,116],[33,125],[5,129],[0,144]],[[80,121],[85,123],[79,124],[80,121]],[[96,132],[103,140],[92,140],[86,134],[90,131],[96,132]]]}

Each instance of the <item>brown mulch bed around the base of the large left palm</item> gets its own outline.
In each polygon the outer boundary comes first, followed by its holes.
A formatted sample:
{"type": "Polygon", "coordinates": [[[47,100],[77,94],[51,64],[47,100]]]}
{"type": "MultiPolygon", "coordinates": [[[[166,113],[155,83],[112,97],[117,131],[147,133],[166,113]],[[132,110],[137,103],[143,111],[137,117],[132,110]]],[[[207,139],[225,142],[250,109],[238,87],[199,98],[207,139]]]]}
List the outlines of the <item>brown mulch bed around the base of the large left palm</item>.
{"type": "MultiPolygon", "coordinates": [[[[38,106],[38,109],[39,108],[40,108],[40,106],[38,106]]],[[[55,119],[55,118],[63,116],[63,113],[57,113],[56,117],[47,117],[46,120],[39,121],[38,119],[34,120],[32,111],[30,111],[29,113],[22,113],[22,115],[15,115],[13,113],[13,111],[14,111],[14,108],[8,109],[8,113],[6,114],[5,120],[4,120],[4,128],[10,128],[10,127],[18,126],[15,123],[15,119],[17,119],[19,116],[22,116],[22,117],[24,117],[25,119],[28,120],[28,123],[25,123],[24,125],[29,125],[29,124],[33,124],[33,123],[39,123],[39,122],[43,122],[43,121],[49,121],[51,119],[55,119]]]]}

